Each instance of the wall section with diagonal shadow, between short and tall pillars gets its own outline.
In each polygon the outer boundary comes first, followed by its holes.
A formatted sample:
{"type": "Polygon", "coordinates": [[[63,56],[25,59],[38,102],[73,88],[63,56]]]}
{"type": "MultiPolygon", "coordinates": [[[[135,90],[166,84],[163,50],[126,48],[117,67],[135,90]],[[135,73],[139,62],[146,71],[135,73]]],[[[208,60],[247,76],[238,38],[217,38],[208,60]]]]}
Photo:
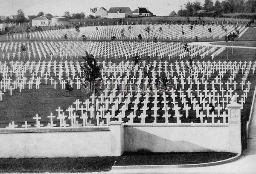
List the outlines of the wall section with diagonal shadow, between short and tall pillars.
{"type": "Polygon", "coordinates": [[[125,151],[228,151],[228,124],[125,125],[125,151]]]}

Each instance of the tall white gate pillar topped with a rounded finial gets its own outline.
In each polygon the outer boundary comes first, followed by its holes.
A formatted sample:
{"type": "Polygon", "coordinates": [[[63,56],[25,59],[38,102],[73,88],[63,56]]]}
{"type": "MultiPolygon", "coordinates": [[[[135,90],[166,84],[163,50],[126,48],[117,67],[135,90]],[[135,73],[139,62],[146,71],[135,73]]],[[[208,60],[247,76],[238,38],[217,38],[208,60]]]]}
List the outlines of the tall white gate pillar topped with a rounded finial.
{"type": "Polygon", "coordinates": [[[233,95],[231,103],[227,104],[228,109],[228,151],[241,153],[241,105],[236,102],[237,97],[233,95]]]}

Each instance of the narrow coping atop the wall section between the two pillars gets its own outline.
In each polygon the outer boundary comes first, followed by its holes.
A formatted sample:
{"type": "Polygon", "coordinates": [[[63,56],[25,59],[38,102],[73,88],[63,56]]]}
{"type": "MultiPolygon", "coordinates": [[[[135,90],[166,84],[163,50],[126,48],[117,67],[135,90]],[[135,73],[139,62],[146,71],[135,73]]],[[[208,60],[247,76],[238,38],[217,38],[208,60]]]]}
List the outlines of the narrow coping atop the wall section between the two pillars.
{"type": "Polygon", "coordinates": [[[228,127],[228,123],[133,123],[124,124],[125,127],[228,127]]]}

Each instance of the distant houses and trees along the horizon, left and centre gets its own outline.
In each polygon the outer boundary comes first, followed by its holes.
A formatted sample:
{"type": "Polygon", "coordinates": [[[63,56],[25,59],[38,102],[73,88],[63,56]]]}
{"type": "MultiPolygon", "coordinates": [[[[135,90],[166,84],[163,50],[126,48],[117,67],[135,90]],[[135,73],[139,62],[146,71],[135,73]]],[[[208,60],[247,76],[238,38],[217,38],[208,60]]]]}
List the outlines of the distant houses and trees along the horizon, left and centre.
{"type": "MultiPolygon", "coordinates": [[[[84,19],[84,18],[126,18],[126,17],[152,17],[155,16],[151,11],[145,7],[138,7],[131,11],[129,7],[111,7],[109,10],[104,7],[90,9],[94,15],[85,17],[84,13],[71,14],[66,11],[62,17],[53,17],[51,14],[44,15],[40,12],[38,15],[24,15],[24,21],[30,23],[31,26],[65,26],[68,25],[70,19],[84,19]]],[[[22,11],[23,12],[23,11],[22,11]]],[[[18,10],[19,13],[19,10],[18,10]]],[[[176,16],[176,12],[172,11],[170,16],[176,16]]],[[[20,23],[17,18],[19,15],[0,16],[0,31],[3,31],[7,23],[20,23]]],[[[24,22],[21,22],[24,23],[24,22]]],[[[10,24],[9,24],[10,25],[10,24]]]]}

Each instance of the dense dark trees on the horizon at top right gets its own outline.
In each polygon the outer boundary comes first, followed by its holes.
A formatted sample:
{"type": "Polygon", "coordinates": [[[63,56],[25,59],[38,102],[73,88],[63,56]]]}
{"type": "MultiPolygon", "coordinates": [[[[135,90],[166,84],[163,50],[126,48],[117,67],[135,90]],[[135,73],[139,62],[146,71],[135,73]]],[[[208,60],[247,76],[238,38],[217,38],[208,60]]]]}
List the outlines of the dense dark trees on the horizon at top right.
{"type": "Polygon", "coordinates": [[[214,14],[215,16],[209,17],[221,17],[221,14],[225,13],[256,13],[256,0],[216,0],[213,3],[212,0],[205,0],[204,4],[200,1],[187,2],[184,4],[185,9],[178,11],[180,16],[208,16],[214,14]],[[206,13],[201,13],[200,10],[205,10],[206,13]],[[208,13],[207,13],[208,12],[208,13]]]}

